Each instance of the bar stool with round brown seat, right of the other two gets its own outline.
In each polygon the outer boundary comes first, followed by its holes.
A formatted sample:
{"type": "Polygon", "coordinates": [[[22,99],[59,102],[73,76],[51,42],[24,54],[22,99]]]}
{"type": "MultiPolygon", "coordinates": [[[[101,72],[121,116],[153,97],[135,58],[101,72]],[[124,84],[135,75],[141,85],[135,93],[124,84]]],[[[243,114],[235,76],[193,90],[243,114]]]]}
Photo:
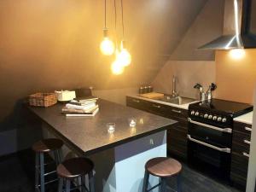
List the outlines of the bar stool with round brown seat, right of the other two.
{"type": "Polygon", "coordinates": [[[172,158],[157,157],[148,162],[145,165],[145,176],[143,181],[143,192],[151,191],[156,187],[160,187],[160,192],[166,192],[166,179],[168,177],[177,176],[177,192],[181,192],[180,185],[180,172],[182,171],[182,165],[172,158]],[[154,185],[154,187],[148,189],[149,175],[160,177],[160,183],[154,185]]]}

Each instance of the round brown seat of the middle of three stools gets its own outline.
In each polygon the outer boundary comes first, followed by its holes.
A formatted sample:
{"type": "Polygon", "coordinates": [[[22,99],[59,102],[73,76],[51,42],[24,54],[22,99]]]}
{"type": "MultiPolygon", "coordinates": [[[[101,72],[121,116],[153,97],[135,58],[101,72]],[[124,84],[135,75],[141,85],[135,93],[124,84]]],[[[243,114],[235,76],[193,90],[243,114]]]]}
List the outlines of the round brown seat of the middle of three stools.
{"type": "Polygon", "coordinates": [[[65,160],[57,166],[57,173],[61,177],[81,177],[92,172],[94,164],[91,160],[83,157],[65,160]]]}

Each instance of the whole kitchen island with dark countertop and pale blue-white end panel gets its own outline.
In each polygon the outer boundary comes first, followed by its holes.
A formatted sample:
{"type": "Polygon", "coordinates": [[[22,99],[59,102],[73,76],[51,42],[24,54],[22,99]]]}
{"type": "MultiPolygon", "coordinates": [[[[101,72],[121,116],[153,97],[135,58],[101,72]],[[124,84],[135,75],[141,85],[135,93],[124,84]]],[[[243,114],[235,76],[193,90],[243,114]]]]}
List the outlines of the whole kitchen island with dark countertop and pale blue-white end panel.
{"type": "MultiPolygon", "coordinates": [[[[176,121],[102,99],[98,103],[95,117],[66,117],[61,114],[63,104],[29,109],[42,120],[44,130],[95,162],[96,191],[140,191],[145,162],[166,156],[166,130],[176,121]],[[130,118],[137,119],[136,127],[129,126],[130,118]],[[108,123],[115,123],[113,133],[108,133],[108,123]]],[[[150,179],[152,185],[157,181],[150,179]]]]}

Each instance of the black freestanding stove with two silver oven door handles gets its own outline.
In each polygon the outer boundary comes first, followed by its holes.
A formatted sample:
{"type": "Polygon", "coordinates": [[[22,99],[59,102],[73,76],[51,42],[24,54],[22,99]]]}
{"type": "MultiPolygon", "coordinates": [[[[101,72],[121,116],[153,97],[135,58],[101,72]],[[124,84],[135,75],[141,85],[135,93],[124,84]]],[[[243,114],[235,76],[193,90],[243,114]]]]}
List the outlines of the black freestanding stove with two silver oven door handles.
{"type": "Polygon", "coordinates": [[[189,105],[188,159],[191,165],[213,166],[230,177],[233,118],[253,111],[253,106],[220,99],[189,105]]]}

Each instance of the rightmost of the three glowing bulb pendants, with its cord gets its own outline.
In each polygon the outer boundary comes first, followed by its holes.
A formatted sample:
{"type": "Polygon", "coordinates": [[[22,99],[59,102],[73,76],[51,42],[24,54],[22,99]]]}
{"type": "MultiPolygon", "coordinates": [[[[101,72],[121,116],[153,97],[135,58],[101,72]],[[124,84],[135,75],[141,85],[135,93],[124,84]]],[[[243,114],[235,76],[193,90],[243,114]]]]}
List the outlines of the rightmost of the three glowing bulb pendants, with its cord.
{"type": "Polygon", "coordinates": [[[123,0],[121,0],[121,9],[122,9],[122,29],[123,29],[123,40],[120,44],[120,52],[118,55],[118,60],[120,64],[124,67],[129,66],[131,64],[131,54],[125,47],[125,26],[124,26],[124,7],[123,0]]]}

